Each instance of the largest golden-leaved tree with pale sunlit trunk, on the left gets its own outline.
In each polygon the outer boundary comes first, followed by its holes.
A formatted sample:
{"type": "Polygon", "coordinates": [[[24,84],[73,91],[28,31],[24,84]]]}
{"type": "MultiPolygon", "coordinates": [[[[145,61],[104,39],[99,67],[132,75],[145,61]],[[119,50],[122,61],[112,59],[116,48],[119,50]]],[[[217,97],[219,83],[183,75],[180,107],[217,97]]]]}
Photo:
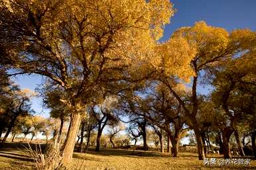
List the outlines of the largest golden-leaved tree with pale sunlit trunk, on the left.
{"type": "Polygon", "coordinates": [[[67,94],[62,101],[73,110],[63,149],[68,165],[84,104],[105,82],[138,76],[141,59],[154,64],[153,48],[174,13],[172,5],[167,0],[0,3],[0,42],[8,52],[0,63],[16,69],[12,75],[43,75],[67,94]]]}

